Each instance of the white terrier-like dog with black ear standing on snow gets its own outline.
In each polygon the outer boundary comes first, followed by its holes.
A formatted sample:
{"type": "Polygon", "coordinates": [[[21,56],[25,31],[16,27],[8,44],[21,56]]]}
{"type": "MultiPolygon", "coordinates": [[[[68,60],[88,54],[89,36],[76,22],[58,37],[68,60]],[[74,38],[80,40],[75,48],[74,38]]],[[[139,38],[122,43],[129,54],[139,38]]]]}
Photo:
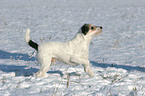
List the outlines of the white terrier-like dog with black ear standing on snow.
{"type": "Polygon", "coordinates": [[[50,41],[38,45],[30,39],[30,29],[27,29],[25,40],[29,46],[37,50],[37,59],[41,65],[36,77],[45,77],[46,72],[55,61],[73,66],[81,64],[90,77],[94,76],[88,60],[89,44],[91,39],[100,33],[102,33],[102,26],[84,24],[75,37],[69,41],[50,41]]]}

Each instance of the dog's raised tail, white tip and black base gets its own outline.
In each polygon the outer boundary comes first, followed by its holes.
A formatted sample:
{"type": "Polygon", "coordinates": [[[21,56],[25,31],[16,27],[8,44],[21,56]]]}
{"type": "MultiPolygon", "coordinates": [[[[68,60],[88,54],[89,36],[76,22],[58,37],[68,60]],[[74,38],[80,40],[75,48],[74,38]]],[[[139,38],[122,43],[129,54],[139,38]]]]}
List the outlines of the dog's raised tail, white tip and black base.
{"type": "Polygon", "coordinates": [[[33,42],[31,39],[30,39],[30,29],[27,29],[26,30],[26,34],[25,34],[25,40],[26,42],[28,43],[29,46],[31,46],[32,48],[34,48],[35,50],[38,51],[38,44],[33,42]]]}

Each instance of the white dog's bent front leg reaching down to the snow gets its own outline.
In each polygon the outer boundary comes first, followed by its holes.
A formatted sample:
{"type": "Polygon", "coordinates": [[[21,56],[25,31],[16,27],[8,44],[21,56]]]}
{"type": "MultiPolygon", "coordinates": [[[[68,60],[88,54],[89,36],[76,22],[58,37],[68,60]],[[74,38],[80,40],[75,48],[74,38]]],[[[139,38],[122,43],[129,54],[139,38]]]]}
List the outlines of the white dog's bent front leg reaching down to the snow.
{"type": "Polygon", "coordinates": [[[94,76],[94,73],[92,72],[92,70],[90,68],[90,62],[89,62],[89,60],[72,56],[71,59],[70,59],[70,61],[72,63],[82,64],[84,66],[84,71],[86,73],[88,73],[90,77],[94,76]]]}

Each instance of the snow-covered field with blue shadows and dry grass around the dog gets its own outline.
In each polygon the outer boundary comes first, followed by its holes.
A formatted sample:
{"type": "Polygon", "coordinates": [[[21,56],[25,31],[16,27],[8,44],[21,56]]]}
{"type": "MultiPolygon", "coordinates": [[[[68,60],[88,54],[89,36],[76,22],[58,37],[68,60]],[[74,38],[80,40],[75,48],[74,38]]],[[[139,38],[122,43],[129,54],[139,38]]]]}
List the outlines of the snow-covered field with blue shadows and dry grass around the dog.
{"type": "Polygon", "coordinates": [[[0,0],[0,96],[145,96],[144,0],[0,0]],[[84,23],[103,26],[82,66],[57,62],[47,78],[25,30],[38,43],[66,41],[84,23]]]}

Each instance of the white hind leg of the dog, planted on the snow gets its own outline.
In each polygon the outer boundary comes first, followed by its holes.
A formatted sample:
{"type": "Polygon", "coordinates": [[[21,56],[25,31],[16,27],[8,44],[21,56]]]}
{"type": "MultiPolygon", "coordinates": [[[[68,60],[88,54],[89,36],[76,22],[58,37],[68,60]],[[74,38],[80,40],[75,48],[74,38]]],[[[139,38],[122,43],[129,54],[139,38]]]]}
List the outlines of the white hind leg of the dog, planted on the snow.
{"type": "Polygon", "coordinates": [[[39,63],[41,63],[40,70],[36,73],[36,77],[45,77],[46,72],[49,70],[51,65],[51,58],[42,58],[39,60],[39,63]]]}

